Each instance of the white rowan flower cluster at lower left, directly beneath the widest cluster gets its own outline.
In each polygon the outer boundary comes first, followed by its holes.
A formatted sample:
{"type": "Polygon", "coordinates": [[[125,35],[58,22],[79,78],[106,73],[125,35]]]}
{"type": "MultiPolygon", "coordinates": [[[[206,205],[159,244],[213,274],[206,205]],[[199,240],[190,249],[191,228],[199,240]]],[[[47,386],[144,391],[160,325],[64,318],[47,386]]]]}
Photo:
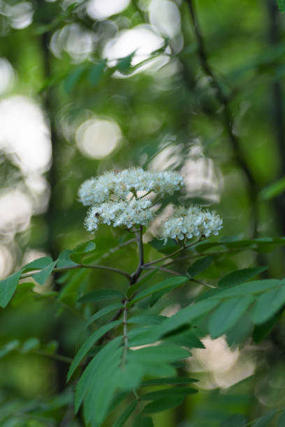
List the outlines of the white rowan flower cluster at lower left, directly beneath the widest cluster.
{"type": "Polygon", "coordinates": [[[85,228],[89,232],[94,232],[100,223],[127,228],[147,225],[153,219],[151,207],[152,202],[147,199],[95,204],[87,213],[85,228]]]}

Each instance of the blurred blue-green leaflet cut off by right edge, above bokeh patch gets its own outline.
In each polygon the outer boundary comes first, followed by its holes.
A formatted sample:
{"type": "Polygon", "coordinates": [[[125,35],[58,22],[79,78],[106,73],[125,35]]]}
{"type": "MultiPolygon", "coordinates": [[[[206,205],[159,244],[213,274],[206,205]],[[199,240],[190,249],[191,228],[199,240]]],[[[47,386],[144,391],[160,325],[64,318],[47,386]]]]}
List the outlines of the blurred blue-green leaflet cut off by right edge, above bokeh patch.
{"type": "Polygon", "coordinates": [[[252,320],[255,324],[262,324],[270,320],[285,304],[285,287],[269,290],[256,301],[252,320]]]}

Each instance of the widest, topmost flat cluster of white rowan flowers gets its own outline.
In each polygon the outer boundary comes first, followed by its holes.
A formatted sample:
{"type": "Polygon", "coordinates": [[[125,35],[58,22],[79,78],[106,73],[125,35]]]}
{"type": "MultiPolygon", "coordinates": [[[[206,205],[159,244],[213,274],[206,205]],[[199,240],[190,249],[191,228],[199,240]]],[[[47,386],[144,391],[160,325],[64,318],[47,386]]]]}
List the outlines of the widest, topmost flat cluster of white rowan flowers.
{"type": "Polygon", "coordinates": [[[151,172],[133,167],[122,171],[105,172],[100,177],[87,179],[80,186],[78,196],[82,204],[90,206],[110,200],[126,200],[129,193],[173,194],[182,186],[184,179],[178,172],[151,172]]]}

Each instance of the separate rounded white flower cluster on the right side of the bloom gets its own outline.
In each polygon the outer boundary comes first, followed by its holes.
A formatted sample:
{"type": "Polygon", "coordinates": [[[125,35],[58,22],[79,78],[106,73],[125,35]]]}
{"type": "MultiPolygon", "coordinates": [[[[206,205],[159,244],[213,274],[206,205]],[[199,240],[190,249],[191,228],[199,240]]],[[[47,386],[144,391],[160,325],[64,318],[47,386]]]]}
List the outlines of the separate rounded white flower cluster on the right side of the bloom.
{"type": "Polygon", "coordinates": [[[192,239],[192,237],[210,237],[219,234],[223,227],[223,220],[214,211],[202,210],[192,206],[189,209],[180,207],[175,209],[173,216],[166,220],[161,227],[161,238],[192,239]]]}

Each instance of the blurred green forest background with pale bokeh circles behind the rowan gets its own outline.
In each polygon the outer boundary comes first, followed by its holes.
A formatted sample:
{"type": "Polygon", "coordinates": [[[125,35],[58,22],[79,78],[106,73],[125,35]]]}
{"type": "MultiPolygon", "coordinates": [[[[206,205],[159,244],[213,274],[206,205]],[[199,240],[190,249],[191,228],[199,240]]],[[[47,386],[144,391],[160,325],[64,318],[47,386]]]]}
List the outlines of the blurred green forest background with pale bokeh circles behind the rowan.
{"type": "MultiPolygon", "coordinates": [[[[213,205],[224,237],[285,235],[285,18],[275,0],[0,0],[0,52],[1,278],[91,239],[78,186],[110,169],[180,170],[180,200],[213,205]]],[[[122,233],[98,236],[117,246],[122,233]]],[[[136,250],[122,251],[104,262],[131,271],[136,250]]],[[[207,278],[254,264],[282,278],[284,250],[235,254],[207,278]]],[[[45,290],[61,289],[55,279],[45,290]]],[[[122,279],[72,279],[61,304],[23,287],[1,310],[0,426],[83,425],[64,362],[39,353],[56,340],[73,357],[82,339],[75,290],[122,279]],[[35,351],[17,352],[31,337],[41,340],[28,341],[35,351]]],[[[183,294],[175,298],[173,310],[183,294]]],[[[189,361],[200,393],[155,426],[242,426],[283,407],[282,319],[259,345],[205,339],[189,361]]]]}

